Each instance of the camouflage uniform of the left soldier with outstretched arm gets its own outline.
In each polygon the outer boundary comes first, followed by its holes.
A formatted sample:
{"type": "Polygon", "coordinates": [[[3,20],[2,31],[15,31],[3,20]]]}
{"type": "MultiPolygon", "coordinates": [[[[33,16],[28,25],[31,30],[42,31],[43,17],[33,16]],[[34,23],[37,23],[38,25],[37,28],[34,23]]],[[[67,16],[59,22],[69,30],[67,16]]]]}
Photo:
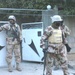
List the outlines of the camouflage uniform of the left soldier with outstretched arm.
{"type": "Polygon", "coordinates": [[[21,54],[20,54],[20,41],[17,40],[17,38],[14,38],[15,35],[12,34],[13,31],[12,29],[16,29],[17,28],[17,34],[19,35],[19,38],[21,40],[21,31],[20,31],[20,27],[18,24],[14,24],[11,27],[11,24],[5,24],[3,26],[0,27],[0,31],[4,30],[6,31],[7,37],[6,37],[6,51],[7,51],[7,55],[6,55],[6,61],[7,64],[10,64],[12,62],[12,55],[14,52],[15,55],[15,59],[16,59],[16,63],[20,63],[21,62],[21,54]]]}

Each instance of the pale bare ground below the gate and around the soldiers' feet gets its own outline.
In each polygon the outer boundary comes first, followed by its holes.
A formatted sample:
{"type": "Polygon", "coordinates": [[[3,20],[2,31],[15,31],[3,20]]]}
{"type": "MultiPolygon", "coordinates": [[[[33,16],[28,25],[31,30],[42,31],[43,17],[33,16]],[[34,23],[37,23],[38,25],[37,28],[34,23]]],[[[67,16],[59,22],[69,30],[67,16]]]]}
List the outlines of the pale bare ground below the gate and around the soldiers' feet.
{"type": "MultiPolygon", "coordinates": [[[[30,63],[30,62],[22,62],[21,64],[22,71],[18,72],[13,68],[13,72],[8,72],[7,67],[0,67],[0,75],[43,75],[43,64],[42,63],[30,63]]],[[[70,75],[75,73],[75,70],[69,69],[70,75]]],[[[63,75],[61,69],[54,71],[53,75],[63,75]]]]}

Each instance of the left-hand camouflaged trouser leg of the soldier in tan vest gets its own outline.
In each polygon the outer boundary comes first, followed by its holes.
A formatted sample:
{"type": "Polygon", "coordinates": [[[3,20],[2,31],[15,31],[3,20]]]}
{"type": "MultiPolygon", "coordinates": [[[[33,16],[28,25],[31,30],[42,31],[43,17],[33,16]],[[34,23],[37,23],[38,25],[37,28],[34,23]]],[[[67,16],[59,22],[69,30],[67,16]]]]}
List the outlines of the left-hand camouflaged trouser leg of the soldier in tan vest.
{"type": "Polygon", "coordinates": [[[46,75],[52,75],[53,57],[52,54],[47,54],[46,60],[46,75]]]}

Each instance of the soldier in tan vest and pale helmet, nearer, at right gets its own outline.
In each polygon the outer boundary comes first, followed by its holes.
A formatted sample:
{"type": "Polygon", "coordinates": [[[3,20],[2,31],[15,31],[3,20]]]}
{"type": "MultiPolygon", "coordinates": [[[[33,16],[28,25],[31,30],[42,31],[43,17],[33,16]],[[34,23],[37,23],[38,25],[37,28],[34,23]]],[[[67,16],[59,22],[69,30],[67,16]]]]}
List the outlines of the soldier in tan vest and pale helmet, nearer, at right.
{"type": "Polygon", "coordinates": [[[67,51],[62,39],[63,31],[60,29],[63,20],[59,15],[54,15],[51,19],[52,25],[45,29],[40,43],[40,47],[45,51],[45,41],[48,41],[46,75],[52,75],[53,59],[57,59],[60,62],[64,75],[68,75],[67,51]]]}

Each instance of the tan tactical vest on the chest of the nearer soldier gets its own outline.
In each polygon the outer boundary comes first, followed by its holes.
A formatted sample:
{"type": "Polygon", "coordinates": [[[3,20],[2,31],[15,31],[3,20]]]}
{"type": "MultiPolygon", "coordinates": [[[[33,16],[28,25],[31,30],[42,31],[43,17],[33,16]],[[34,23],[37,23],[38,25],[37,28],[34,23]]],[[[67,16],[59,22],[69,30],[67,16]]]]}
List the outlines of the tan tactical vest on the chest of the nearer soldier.
{"type": "Polygon", "coordinates": [[[48,38],[50,43],[62,43],[62,31],[59,29],[54,29],[51,36],[48,38]]]}

